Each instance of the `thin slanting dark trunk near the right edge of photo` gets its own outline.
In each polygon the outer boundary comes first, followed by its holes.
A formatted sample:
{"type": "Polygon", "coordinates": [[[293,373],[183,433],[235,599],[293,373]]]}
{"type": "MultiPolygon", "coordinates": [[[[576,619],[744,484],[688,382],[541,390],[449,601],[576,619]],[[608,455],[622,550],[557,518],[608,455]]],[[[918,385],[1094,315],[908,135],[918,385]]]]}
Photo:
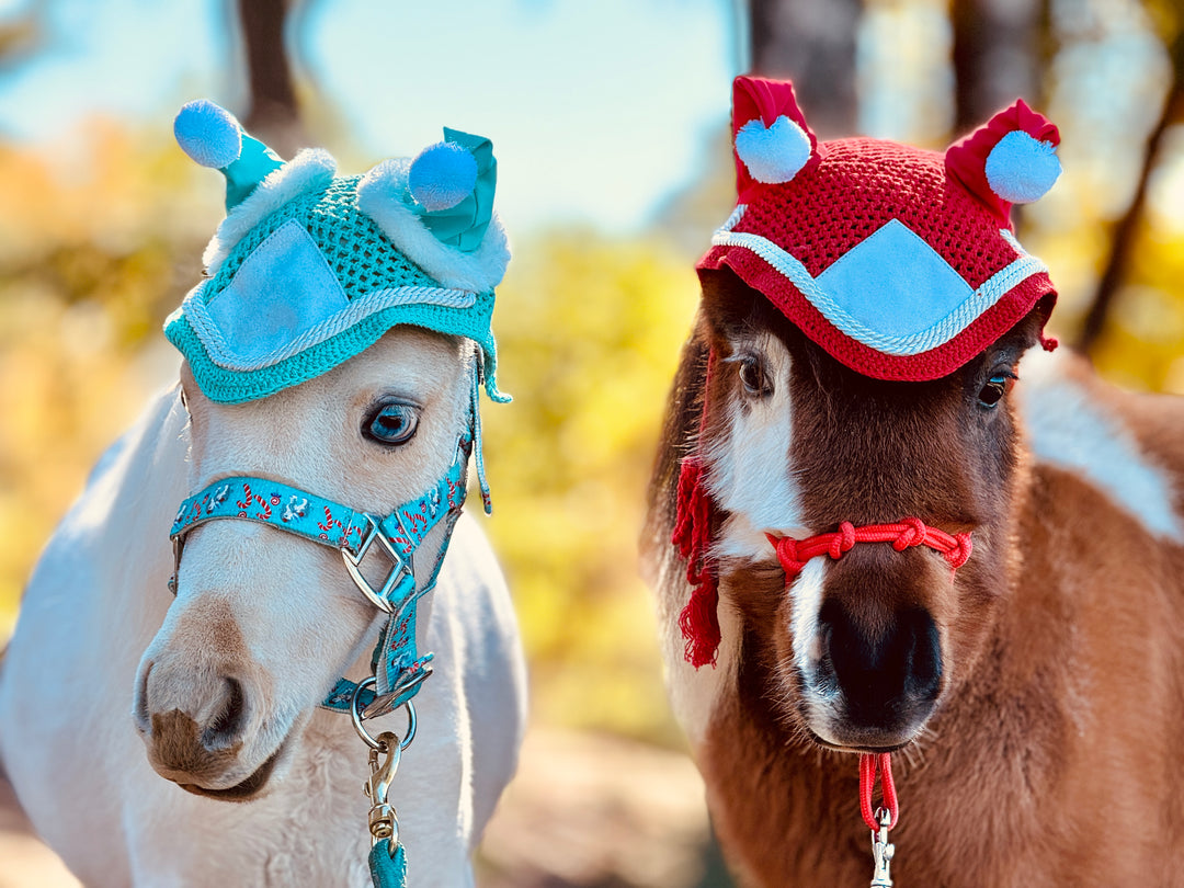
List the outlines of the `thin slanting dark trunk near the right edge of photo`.
{"type": "Polygon", "coordinates": [[[1081,334],[1075,343],[1079,349],[1087,354],[1098,345],[1109,318],[1114,296],[1126,278],[1139,233],[1139,224],[1143,221],[1143,211],[1147,202],[1147,182],[1162,159],[1164,135],[1169,127],[1184,122],[1184,27],[1177,30],[1167,51],[1172,62],[1172,85],[1164,98],[1164,109],[1159,120],[1147,136],[1134,197],[1131,198],[1131,205],[1126,213],[1114,226],[1109,257],[1098,281],[1098,289],[1094,291],[1093,302],[1086,313],[1086,320],[1081,324],[1081,334]]]}

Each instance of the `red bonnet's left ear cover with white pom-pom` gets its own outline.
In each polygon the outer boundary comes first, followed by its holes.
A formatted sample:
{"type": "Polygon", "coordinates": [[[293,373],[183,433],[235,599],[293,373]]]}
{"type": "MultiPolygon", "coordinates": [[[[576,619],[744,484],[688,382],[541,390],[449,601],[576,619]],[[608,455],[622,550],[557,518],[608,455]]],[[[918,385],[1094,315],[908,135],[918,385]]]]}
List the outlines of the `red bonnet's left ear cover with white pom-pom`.
{"type": "Polygon", "coordinates": [[[732,84],[732,139],[736,193],[787,182],[818,161],[818,140],[789,81],[736,77],[732,84]]]}

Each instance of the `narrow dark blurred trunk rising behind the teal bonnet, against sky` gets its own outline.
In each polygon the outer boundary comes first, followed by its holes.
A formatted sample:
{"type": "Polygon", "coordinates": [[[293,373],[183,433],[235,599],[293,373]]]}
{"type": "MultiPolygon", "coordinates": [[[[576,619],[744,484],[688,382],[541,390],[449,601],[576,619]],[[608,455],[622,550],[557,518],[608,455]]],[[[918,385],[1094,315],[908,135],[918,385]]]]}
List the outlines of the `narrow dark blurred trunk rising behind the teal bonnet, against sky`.
{"type": "Polygon", "coordinates": [[[237,5],[247,72],[243,126],[281,156],[291,157],[307,140],[284,43],[289,0],[237,0],[237,5]]]}

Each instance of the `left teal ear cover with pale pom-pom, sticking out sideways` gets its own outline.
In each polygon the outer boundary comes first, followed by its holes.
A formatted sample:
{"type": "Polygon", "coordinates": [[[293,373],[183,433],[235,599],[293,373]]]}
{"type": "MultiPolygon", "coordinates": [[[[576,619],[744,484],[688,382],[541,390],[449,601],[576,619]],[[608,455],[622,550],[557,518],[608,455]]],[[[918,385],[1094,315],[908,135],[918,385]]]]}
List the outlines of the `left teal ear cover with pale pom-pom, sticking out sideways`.
{"type": "Polygon", "coordinates": [[[173,121],[181,150],[204,167],[226,176],[226,212],[237,207],[284,161],[258,139],[243,131],[225,108],[201,98],[186,104],[173,121]]]}

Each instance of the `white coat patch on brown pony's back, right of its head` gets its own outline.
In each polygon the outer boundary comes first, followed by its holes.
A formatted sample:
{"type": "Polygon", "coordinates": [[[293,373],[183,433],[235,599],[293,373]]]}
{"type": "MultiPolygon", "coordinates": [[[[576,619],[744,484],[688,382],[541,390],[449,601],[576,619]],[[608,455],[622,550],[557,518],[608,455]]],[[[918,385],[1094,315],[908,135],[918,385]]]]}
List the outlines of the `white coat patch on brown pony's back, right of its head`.
{"type": "Polygon", "coordinates": [[[1021,363],[1016,391],[1032,455],[1083,477],[1152,533],[1184,539],[1166,471],[1140,450],[1118,417],[1057,372],[1060,363],[1037,349],[1021,363]]]}

